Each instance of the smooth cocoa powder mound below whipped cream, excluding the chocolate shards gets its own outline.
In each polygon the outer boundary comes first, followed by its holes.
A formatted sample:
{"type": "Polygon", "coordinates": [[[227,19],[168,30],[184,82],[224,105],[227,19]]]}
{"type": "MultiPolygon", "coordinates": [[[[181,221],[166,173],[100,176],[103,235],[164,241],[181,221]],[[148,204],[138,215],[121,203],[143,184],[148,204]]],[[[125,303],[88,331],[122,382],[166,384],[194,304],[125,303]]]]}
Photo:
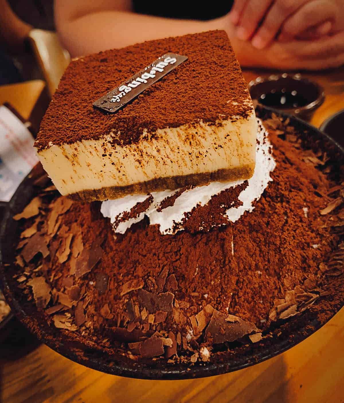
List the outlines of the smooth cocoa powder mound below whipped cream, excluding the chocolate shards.
{"type": "MultiPolygon", "coordinates": [[[[96,271],[110,277],[109,291],[98,295],[93,286],[86,285],[95,310],[107,302],[113,308],[122,304],[118,285],[138,277],[146,282],[150,277],[157,278],[162,267],[168,267],[169,274],[175,274],[178,281],[177,300],[188,301],[192,306],[207,294],[207,303],[218,310],[230,307],[232,314],[259,326],[281,287],[291,289],[316,274],[317,266],[331,251],[333,239],[321,228],[325,218],[319,216],[327,202],[321,194],[326,194],[328,183],[285,141],[271,136],[271,142],[277,168],[253,213],[246,212],[234,224],[207,233],[161,235],[159,228],[145,219],[125,235],[114,237],[110,220],[93,212],[97,209],[92,204],[74,203],[64,214],[64,223],[77,222],[82,227],[85,248],[98,239],[99,230],[105,234],[104,256],[96,271]],[[309,210],[307,218],[305,206],[309,210]],[[321,247],[311,246],[317,244],[321,247]],[[200,297],[192,297],[191,293],[200,297]]],[[[68,265],[54,258],[52,266],[63,276],[68,275],[68,265]]],[[[95,281],[93,272],[86,278],[95,281]]]]}

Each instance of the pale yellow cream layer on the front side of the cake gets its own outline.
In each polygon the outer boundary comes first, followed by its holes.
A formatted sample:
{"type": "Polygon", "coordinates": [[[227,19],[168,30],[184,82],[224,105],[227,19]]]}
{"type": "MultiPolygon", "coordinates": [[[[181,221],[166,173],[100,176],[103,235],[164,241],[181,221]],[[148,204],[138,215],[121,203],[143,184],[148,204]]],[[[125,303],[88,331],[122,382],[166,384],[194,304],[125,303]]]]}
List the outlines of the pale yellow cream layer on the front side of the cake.
{"type": "Polygon", "coordinates": [[[251,116],[147,130],[137,143],[117,145],[118,133],[98,140],[54,145],[39,160],[62,195],[255,165],[257,121],[251,116]],[[236,121],[233,121],[236,120],[236,121]]]}

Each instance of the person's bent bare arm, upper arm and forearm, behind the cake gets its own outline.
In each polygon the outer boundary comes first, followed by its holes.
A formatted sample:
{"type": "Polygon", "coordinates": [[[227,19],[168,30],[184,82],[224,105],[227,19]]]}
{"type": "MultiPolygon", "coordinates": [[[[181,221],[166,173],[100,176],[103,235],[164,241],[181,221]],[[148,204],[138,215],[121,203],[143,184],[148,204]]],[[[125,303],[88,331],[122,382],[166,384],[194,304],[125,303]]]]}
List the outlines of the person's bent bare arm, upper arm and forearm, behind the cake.
{"type": "Polygon", "coordinates": [[[136,14],[131,11],[131,2],[125,0],[55,0],[55,22],[61,42],[72,56],[221,29],[216,20],[178,20],[136,14]]]}

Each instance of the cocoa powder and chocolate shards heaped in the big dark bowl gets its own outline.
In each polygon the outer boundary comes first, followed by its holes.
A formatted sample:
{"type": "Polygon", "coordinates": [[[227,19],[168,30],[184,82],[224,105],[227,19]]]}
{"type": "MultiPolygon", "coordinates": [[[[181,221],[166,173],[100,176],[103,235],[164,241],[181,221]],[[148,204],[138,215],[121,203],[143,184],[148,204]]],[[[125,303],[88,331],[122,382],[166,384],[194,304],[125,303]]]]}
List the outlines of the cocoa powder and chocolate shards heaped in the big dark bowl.
{"type": "MultiPolygon", "coordinates": [[[[83,250],[97,245],[102,251],[94,267],[87,267],[83,276],[74,275],[73,283],[66,281],[73,253],[61,264],[50,249],[60,231],[48,243],[50,255],[38,253],[29,265],[33,269],[42,264],[50,279],[50,305],[59,303],[54,300],[56,293],[70,293],[70,284],[78,287],[75,297],[78,294],[83,304],[79,301],[68,310],[72,319],[78,312],[77,324],[82,324],[79,330],[73,327],[74,332],[99,341],[106,335],[107,341],[100,343],[106,351],[115,341],[132,342],[129,358],[133,354],[155,357],[164,351],[170,358],[178,349],[179,360],[192,351],[191,362],[196,362],[209,359],[212,343],[235,337],[247,337],[245,343],[260,342],[261,332],[264,337],[271,322],[316,310],[319,300],[325,311],[317,317],[328,318],[331,303],[338,305],[343,297],[336,293],[344,271],[344,178],[337,175],[336,183],[330,181],[331,169],[323,163],[326,155],[305,152],[294,129],[281,122],[273,129],[266,124],[277,164],[271,172],[273,181],[253,212],[245,212],[235,223],[211,228],[212,220],[221,220],[221,214],[216,216],[219,210],[213,208],[236,205],[247,183],[220,193],[214,205],[196,208],[186,230],[176,235],[161,235],[147,218],[124,235],[114,235],[99,203],[69,206],[61,216],[63,236],[68,233],[65,227],[81,229],[83,250]],[[329,212],[321,213],[324,209],[329,212]],[[209,355],[204,355],[204,347],[209,355]],[[200,351],[203,355],[198,358],[200,351]]],[[[43,202],[42,208],[54,210],[62,204],[43,202]]],[[[30,220],[35,218],[27,220],[23,229],[30,220]]],[[[43,233],[44,228],[39,228],[43,233]]],[[[68,314],[67,319],[72,320],[68,314]]],[[[62,328],[70,326],[63,312],[55,322],[62,328]]]]}

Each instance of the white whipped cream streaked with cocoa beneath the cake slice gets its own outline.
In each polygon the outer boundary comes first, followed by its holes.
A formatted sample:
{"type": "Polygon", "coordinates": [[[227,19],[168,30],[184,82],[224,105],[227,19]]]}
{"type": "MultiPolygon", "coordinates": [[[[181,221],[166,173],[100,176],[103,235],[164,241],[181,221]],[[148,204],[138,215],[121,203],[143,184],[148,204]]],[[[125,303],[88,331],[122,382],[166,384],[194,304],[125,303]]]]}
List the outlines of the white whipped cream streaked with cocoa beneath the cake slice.
{"type": "MultiPolygon", "coordinates": [[[[272,181],[270,172],[276,167],[276,162],[272,156],[268,133],[261,120],[257,119],[257,121],[255,171],[247,181],[247,187],[238,196],[242,205],[226,210],[228,222],[237,221],[245,211],[252,212],[254,202],[259,200],[268,183],[272,181]]],[[[106,200],[102,203],[100,211],[104,217],[110,217],[115,233],[124,234],[133,224],[147,216],[151,225],[160,226],[160,233],[173,235],[183,229],[183,222],[195,207],[205,206],[215,195],[242,185],[244,182],[244,180],[212,182],[209,185],[196,186],[182,192],[177,189],[152,192],[148,195],[128,195],[120,199],[106,200]],[[169,197],[175,197],[174,203],[164,208],[162,202],[166,202],[165,199],[169,197]]]]}

